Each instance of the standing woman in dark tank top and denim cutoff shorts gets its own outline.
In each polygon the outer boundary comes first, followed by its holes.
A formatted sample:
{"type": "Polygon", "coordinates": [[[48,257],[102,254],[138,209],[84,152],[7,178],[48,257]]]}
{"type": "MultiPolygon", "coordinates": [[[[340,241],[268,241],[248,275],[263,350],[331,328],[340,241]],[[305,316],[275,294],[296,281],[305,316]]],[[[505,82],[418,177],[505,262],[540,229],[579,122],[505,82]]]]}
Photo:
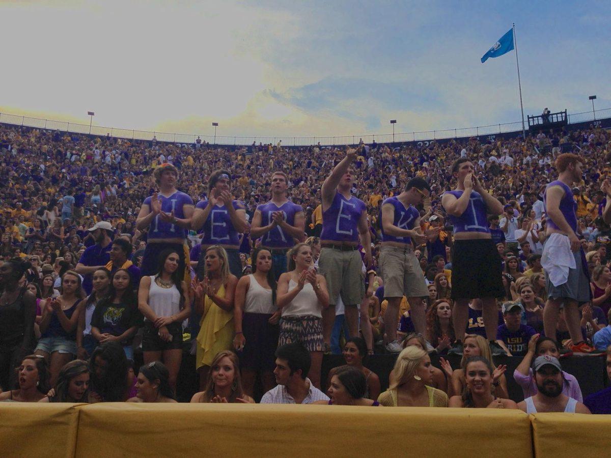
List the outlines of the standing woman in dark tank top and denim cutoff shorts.
{"type": "Polygon", "coordinates": [[[76,324],[85,307],[82,297],[81,276],[67,271],[62,277],[62,294],[47,299],[40,320],[41,337],[34,354],[49,362],[51,385],[55,385],[62,367],[76,356],[76,324]]]}

